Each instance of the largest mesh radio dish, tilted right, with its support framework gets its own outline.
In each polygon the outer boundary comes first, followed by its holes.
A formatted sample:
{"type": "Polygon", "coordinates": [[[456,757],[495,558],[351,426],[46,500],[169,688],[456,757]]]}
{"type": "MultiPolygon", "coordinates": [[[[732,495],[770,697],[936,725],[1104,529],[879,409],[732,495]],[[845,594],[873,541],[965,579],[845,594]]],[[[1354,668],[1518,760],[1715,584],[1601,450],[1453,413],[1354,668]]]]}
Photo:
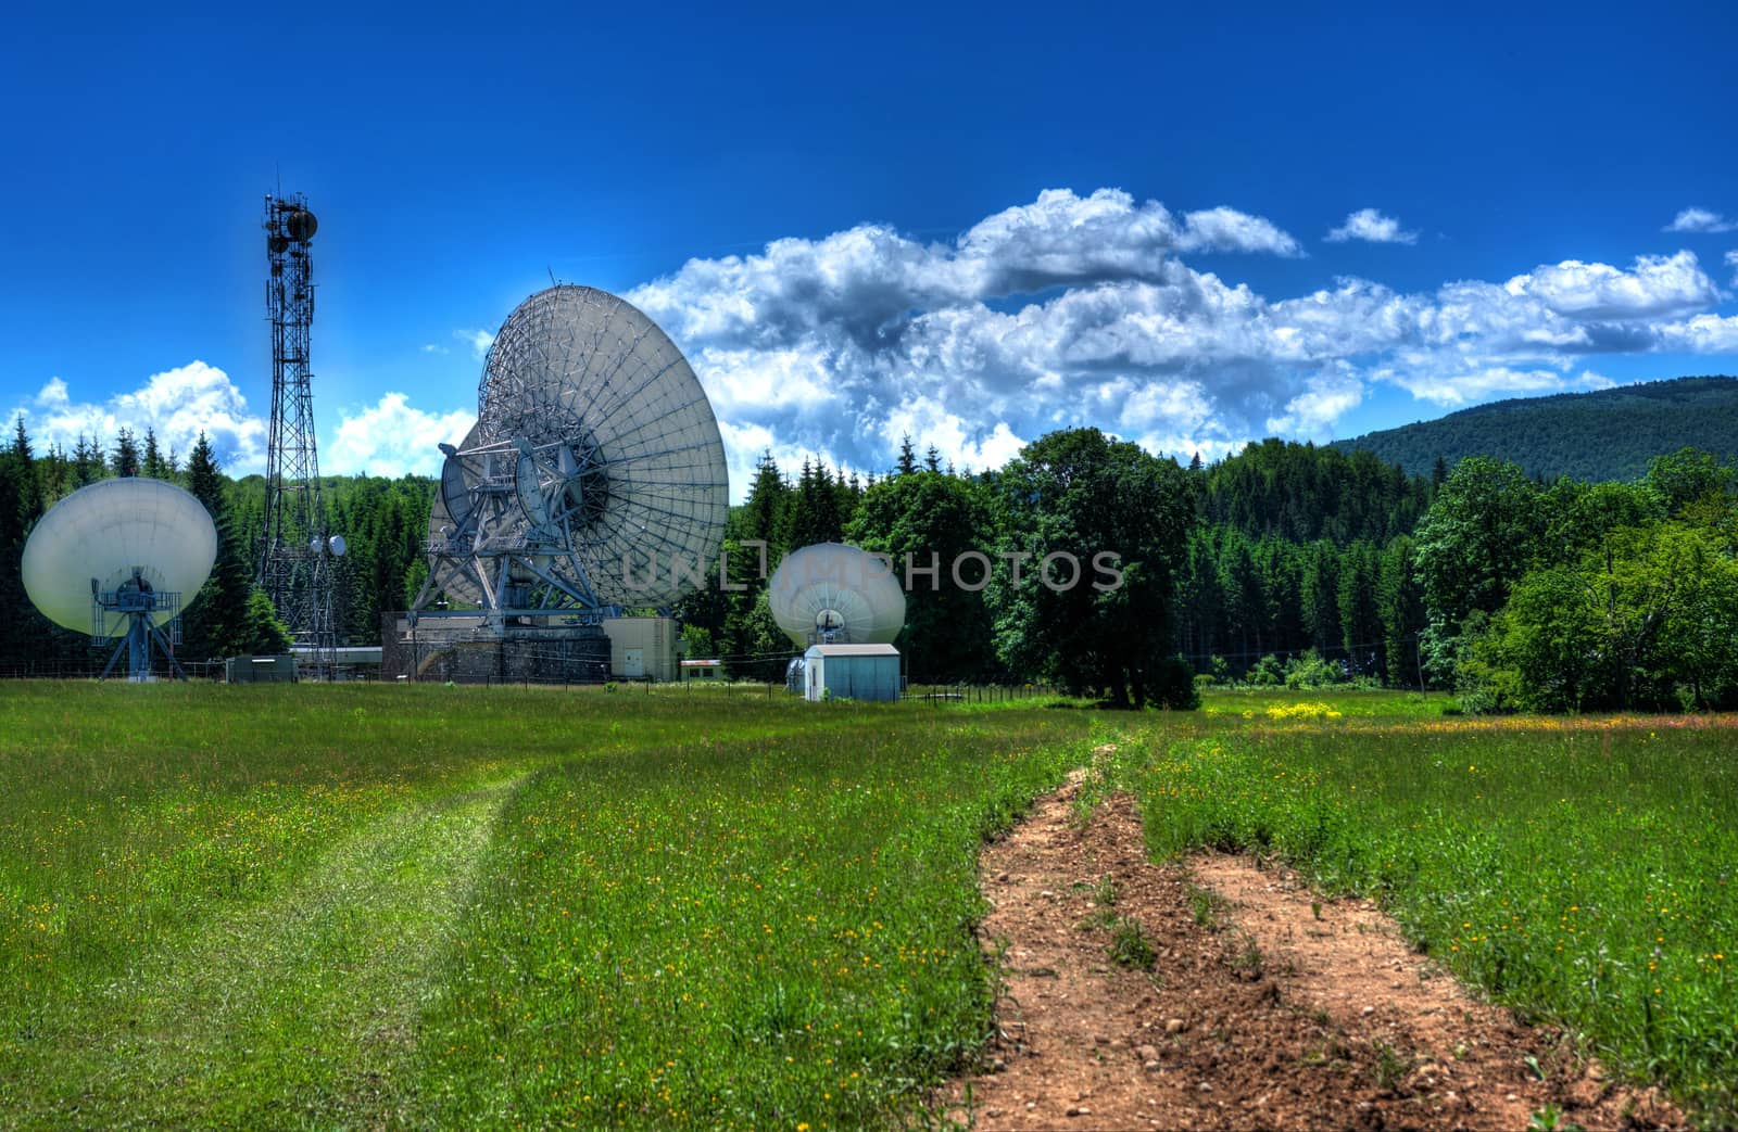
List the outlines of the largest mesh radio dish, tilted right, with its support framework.
{"type": "Polygon", "coordinates": [[[723,542],[730,486],[706,391],[608,292],[521,302],[483,363],[476,425],[443,448],[419,608],[436,589],[497,613],[669,606],[723,542]]]}

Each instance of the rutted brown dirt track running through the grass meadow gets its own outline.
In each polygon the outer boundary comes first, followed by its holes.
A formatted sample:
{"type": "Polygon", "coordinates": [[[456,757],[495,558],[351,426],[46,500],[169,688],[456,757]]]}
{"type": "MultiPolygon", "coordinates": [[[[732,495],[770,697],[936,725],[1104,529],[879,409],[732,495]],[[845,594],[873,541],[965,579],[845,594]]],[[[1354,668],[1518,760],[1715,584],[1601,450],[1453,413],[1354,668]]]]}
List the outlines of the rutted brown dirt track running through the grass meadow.
{"type": "Polygon", "coordinates": [[[1001,1040],[987,1071],[945,1092],[954,1120],[1526,1129],[1554,1106],[1562,1127],[1682,1125],[1566,1035],[1474,1000],[1373,905],[1321,901],[1237,858],[1149,865],[1133,802],[1112,797],[1081,830],[1076,790],[1043,799],[984,854],[1001,1040]],[[1118,917],[1142,925],[1151,971],[1112,962],[1118,917]]]}

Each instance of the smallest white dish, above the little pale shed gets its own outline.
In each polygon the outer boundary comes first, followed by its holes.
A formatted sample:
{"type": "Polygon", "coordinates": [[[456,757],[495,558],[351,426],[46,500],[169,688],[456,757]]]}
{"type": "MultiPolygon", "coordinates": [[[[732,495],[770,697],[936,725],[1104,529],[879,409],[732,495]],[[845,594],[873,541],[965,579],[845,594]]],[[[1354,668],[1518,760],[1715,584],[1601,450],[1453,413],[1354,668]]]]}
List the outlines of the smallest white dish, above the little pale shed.
{"type": "Polygon", "coordinates": [[[838,542],[787,554],[766,602],[798,646],[892,644],[905,627],[905,592],[886,559],[838,542]]]}

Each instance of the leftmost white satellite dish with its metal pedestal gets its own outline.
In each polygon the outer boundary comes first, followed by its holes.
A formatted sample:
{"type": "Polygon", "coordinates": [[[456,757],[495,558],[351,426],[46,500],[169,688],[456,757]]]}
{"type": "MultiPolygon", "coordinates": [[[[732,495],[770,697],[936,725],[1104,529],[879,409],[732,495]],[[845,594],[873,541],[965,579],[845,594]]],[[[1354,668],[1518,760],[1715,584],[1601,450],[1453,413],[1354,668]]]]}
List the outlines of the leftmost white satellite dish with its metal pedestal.
{"type": "Polygon", "coordinates": [[[205,505],[162,479],[103,479],[73,491],[36,523],[24,543],[24,592],[56,625],[90,634],[97,642],[127,635],[129,672],[144,679],[156,641],[210,576],[217,528],[205,505]]]}

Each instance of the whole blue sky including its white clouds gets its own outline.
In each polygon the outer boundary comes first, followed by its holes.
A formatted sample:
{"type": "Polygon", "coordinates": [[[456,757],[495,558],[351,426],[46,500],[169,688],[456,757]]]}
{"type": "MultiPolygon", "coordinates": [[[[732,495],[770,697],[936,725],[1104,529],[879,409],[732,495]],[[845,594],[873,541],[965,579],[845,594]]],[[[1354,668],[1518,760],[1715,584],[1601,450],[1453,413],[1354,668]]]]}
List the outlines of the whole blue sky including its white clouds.
{"type": "Polygon", "coordinates": [[[551,274],[683,347],[733,495],[1738,372],[1731,5],[615,7],[12,17],[0,410],[261,471],[280,184],[328,472],[433,471],[551,274]]]}

